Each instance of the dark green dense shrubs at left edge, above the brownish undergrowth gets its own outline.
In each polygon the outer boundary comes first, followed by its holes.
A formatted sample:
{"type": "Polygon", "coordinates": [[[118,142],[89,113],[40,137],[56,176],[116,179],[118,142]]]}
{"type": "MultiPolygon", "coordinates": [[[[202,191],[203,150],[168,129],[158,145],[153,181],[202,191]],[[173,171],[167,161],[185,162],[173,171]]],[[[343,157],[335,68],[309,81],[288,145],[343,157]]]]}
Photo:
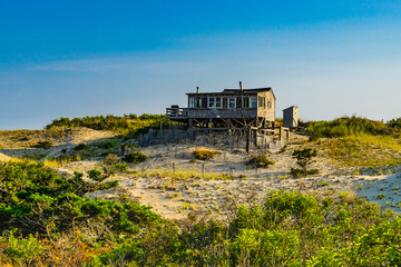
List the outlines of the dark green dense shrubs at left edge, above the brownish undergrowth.
{"type": "Polygon", "coordinates": [[[0,231],[22,235],[67,231],[88,219],[124,233],[138,233],[137,224],[158,218],[137,202],[117,204],[84,198],[118,182],[90,184],[76,172],[71,179],[40,164],[0,164],[0,231]]]}

